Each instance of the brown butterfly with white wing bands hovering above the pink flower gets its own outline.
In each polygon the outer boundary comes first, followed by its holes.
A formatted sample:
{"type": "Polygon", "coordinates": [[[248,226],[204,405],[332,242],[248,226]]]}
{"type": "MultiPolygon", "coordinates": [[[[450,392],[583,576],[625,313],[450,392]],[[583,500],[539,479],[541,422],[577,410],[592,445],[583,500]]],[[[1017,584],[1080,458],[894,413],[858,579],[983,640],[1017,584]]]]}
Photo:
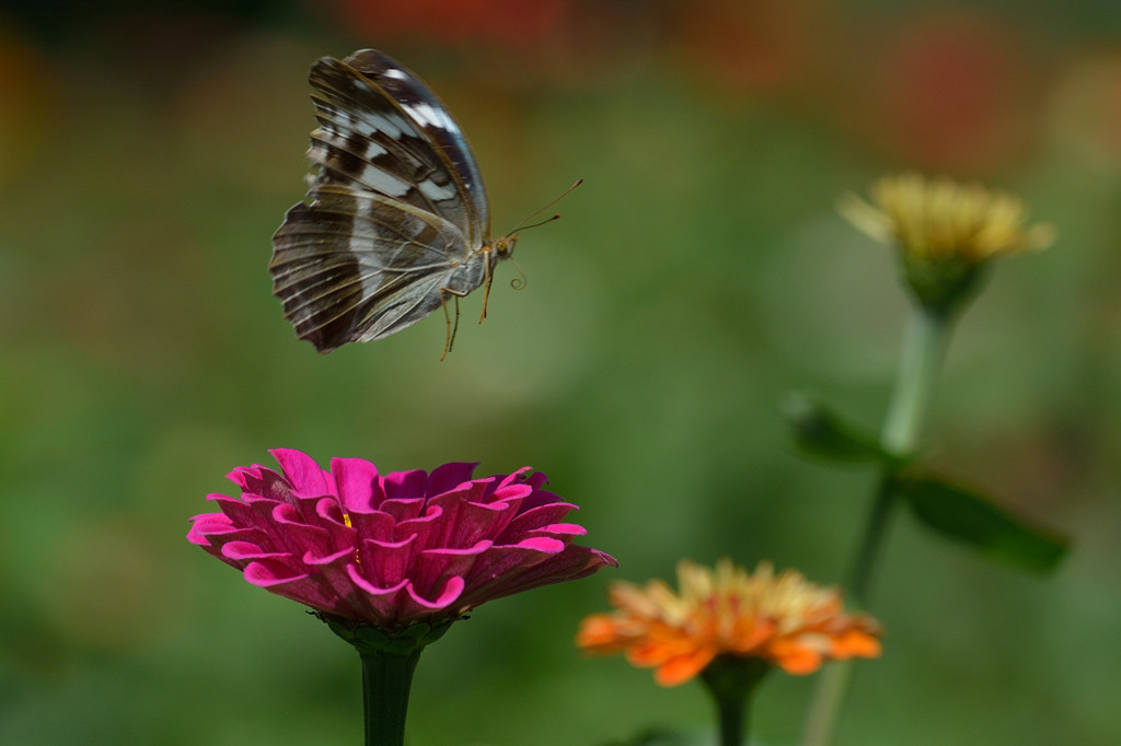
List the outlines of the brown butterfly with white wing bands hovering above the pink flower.
{"type": "MultiPolygon", "coordinates": [[[[272,292],[321,353],[372,342],[485,285],[517,234],[491,237],[490,203],[444,104],[390,57],[362,49],[312,66],[319,127],[308,192],[272,236],[272,292]]],[[[483,316],[487,300],[483,300],[483,316]]],[[[480,319],[481,320],[481,319],[480,319]]]]}

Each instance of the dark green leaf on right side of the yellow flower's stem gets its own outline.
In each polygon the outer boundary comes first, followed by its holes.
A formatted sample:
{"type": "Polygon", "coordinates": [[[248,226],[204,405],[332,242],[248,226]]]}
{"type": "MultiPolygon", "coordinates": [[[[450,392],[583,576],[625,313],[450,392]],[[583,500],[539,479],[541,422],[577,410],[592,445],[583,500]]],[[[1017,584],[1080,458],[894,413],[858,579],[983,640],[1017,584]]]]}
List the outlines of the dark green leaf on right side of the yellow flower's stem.
{"type": "Polygon", "coordinates": [[[1066,553],[1066,538],[1026,523],[980,493],[927,477],[899,478],[896,488],[930,529],[1021,570],[1048,572],[1066,553]]]}

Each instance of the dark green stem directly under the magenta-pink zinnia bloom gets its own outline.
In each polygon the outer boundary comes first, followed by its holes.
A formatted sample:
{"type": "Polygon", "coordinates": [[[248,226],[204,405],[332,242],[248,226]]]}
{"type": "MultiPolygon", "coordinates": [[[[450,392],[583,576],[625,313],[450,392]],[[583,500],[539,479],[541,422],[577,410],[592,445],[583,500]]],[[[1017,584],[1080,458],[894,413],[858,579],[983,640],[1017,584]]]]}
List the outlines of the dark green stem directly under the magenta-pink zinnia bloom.
{"type": "Polygon", "coordinates": [[[405,654],[360,652],[362,658],[362,711],[365,746],[402,746],[409,690],[420,651],[405,654]]]}

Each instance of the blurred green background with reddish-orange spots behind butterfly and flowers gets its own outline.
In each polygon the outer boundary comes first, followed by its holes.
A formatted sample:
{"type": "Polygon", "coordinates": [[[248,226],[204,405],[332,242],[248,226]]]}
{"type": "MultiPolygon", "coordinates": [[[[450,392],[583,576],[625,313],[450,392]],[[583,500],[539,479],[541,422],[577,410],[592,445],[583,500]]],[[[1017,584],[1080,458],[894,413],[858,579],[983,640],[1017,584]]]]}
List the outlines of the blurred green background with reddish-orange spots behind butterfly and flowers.
{"type": "MultiPolygon", "coordinates": [[[[192,548],[277,446],[526,464],[620,568],[497,602],[417,672],[410,743],[703,731],[700,686],[587,660],[612,578],[731,556],[845,572],[873,477],[786,394],[874,428],[907,301],[834,199],[917,168],[1058,226],[960,326],[938,465],[1073,538],[1050,577],[901,516],[840,744],[1121,742],[1121,7],[872,0],[66,2],[0,10],[0,743],[356,744],[358,659],[192,548]],[[494,227],[577,177],[438,361],[438,315],[328,356],[270,296],[317,57],[373,46],[472,139],[494,227]]],[[[480,298],[465,304],[465,318],[480,298]]],[[[812,679],[756,736],[794,744],[812,679]]]]}

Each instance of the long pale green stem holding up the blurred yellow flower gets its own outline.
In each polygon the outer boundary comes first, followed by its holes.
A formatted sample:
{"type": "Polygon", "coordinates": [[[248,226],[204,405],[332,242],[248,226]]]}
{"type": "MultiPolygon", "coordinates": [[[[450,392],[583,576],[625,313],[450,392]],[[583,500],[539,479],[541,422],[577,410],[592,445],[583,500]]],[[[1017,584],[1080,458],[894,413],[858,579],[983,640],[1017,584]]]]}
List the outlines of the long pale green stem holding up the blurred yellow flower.
{"type": "MultiPolygon", "coordinates": [[[[938,372],[949,344],[952,319],[946,314],[916,306],[904,337],[902,355],[896,389],[880,433],[884,450],[906,457],[919,445],[927,413],[934,402],[938,372]]],[[[863,535],[847,590],[863,607],[868,607],[872,577],[879,565],[888,525],[895,513],[896,474],[884,467],[872,498],[863,535]]],[[[837,715],[852,677],[852,663],[832,663],[821,673],[806,717],[803,746],[827,746],[833,740],[837,715]]]]}

